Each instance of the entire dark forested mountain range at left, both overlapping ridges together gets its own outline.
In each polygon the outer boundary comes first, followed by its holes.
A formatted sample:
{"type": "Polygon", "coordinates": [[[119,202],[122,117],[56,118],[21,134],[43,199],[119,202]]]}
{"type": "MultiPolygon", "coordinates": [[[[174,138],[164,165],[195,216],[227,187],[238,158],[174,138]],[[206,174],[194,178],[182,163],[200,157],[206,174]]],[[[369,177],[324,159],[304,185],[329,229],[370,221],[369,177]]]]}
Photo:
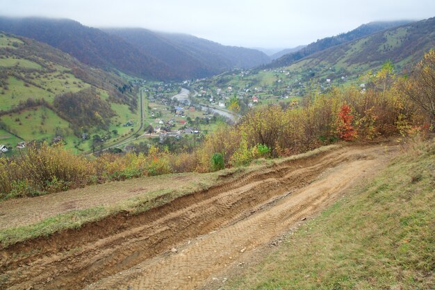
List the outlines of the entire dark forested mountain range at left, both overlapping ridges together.
{"type": "Polygon", "coordinates": [[[186,79],[265,64],[261,51],[146,29],[102,31],[69,19],[0,17],[0,31],[47,43],[85,64],[145,79],[186,79]]]}

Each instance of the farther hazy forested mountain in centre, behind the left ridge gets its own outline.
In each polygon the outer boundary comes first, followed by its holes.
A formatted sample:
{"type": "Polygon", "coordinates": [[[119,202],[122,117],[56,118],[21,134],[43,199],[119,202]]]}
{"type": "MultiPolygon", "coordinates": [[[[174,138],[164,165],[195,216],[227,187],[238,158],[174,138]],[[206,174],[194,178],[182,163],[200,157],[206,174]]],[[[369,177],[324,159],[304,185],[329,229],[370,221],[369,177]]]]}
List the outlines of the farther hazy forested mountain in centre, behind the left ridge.
{"type": "Polygon", "coordinates": [[[189,76],[210,76],[233,68],[250,68],[268,63],[261,51],[230,47],[180,33],[159,33],[147,29],[104,29],[154,56],[174,70],[189,76]]]}

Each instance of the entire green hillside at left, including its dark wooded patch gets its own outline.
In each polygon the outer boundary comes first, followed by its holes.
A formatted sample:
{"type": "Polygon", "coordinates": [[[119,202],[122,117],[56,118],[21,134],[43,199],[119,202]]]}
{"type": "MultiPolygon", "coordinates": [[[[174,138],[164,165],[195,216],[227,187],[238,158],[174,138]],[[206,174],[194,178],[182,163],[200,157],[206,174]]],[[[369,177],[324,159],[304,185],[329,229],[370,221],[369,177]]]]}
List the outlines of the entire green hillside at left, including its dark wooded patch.
{"type": "Polygon", "coordinates": [[[136,118],[138,104],[133,87],[120,76],[7,33],[0,33],[0,94],[0,143],[8,147],[61,136],[67,147],[88,150],[83,133],[129,130],[120,123],[136,118]]]}

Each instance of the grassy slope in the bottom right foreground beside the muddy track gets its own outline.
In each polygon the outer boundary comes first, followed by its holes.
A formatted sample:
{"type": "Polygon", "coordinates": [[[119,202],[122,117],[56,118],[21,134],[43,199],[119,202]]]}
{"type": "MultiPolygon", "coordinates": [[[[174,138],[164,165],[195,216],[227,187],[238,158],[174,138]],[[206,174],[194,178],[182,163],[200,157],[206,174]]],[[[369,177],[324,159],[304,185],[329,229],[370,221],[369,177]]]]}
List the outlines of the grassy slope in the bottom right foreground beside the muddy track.
{"type": "Polygon", "coordinates": [[[395,159],[223,289],[433,289],[434,160],[395,159]]]}

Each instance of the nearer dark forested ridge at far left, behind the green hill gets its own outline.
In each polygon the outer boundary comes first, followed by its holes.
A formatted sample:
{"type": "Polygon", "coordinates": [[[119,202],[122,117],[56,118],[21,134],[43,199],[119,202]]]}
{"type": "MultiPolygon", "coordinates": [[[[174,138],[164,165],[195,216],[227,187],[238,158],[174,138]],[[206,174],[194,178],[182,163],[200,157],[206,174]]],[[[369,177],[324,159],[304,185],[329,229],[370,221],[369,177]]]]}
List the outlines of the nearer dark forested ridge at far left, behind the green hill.
{"type": "Polygon", "coordinates": [[[145,78],[174,78],[161,61],[131,47],[121,38],[69,19],[0,17],[0,31],[7,31],[56,47],[79,61],[145,78]]]}

